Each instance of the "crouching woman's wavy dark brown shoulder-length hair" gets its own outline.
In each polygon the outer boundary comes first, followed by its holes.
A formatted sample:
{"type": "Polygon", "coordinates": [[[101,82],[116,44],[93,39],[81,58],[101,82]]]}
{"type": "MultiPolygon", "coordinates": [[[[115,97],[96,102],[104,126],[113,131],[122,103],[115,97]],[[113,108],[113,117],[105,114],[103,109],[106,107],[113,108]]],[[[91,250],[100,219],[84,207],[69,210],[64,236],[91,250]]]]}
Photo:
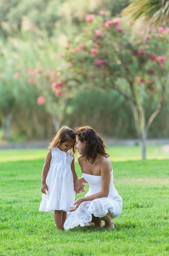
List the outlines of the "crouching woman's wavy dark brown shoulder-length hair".
{"type": "Polygon", "coordinates": [[[106,145],[103,143],[102,138],[97,132],[90,126],[79,127],[76,130],[76,135],[81,142],[84,142],[85,148],[83,157],[89,161],[89,163],[95,163],[97,154],[109,157],[106,153],[106,145]]]}

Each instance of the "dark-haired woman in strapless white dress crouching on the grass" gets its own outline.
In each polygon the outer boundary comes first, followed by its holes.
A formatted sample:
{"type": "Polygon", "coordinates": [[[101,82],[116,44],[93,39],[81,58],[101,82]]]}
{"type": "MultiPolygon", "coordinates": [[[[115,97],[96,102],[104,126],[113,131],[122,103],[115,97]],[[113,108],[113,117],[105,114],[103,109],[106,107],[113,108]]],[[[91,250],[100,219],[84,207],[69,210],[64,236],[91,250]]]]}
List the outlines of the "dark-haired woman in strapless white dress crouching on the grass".
{"type": "Polygon", "coordinates": [[[82,191],[82,183],[89,183],[89,192],[78,198],[65,221],[64,229],[95,224],[95,227],[114,229],[112,222],[122,212],[122,198],[113,185],[112,163],[106,146],[97,132],[89,126],[76,132],[76,148],[82,177],[74,183],[74,190],[82,191]],[[103,220],[103,221],[102,221],[103,220]]]}

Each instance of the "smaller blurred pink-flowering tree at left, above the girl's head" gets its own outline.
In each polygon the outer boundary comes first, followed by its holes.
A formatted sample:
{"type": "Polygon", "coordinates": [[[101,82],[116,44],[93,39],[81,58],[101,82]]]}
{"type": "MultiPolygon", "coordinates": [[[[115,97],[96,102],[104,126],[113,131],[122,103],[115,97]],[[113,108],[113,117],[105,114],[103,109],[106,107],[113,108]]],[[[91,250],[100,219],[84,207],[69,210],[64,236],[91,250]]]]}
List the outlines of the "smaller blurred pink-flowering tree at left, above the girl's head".
{"type": "MultiPolygon", "coordinates": [[[[58,55],[57,58],[63,58],[58,55]]],[[[37,90],[37,105],[44,105],[46,111],[52,116],[52,122],[57,132],[60,129],[61,122],[66,111],[67,102],[72,97],[66,80],[62,81],[60,68],[20,68],[20,71],[14,73],[14,79],[26,81],[32,84],[37,90]]]]}

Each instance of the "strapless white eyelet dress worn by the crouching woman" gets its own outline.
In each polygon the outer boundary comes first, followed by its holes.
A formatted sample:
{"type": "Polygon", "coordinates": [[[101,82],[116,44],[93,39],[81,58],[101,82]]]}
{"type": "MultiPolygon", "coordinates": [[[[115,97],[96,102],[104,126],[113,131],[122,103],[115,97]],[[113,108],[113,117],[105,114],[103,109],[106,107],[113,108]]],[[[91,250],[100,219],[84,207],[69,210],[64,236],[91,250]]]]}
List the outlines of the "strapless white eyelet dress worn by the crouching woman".
{"type": "MultiPolygon", "coordinates": [[[[89,192],[87,192],[85,196],[93,195],[101,191],[101,176],[83,173],[83,178],[89,183],[89,192]]],[[[112,171],[108,197],[82,202],[74,212],[70,212],[64,223],[64,229],[69,230],[78,225],[81,227],[92,225],[92,214],[102,218],[109,211],[112,215],[112,219],[116,218],[122,212],[122,204],[122,198],[113,185],[112,171]]]]}

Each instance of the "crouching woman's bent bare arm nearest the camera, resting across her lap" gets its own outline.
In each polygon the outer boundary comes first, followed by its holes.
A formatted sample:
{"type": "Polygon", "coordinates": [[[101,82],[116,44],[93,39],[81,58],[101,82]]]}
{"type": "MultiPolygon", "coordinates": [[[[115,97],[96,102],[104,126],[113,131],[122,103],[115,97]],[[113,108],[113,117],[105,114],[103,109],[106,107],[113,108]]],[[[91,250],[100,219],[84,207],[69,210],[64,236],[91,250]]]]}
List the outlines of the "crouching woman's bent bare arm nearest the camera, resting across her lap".
{"type": "Polygon", "coordinates": [[[109,188],[110,188],[111,170],[112,170],[112,167],[109,164],[109,160],[102,160],[102,163],[100,164],[101,186],[102,186],[101,191],[93,195],[89,195],[83,198],[78,198],[74,203],[75,206],[71,207],[69,211],[70,212],[74,211],[84,201],[92,201],[97,198],[108,197],[109,188]]]}

